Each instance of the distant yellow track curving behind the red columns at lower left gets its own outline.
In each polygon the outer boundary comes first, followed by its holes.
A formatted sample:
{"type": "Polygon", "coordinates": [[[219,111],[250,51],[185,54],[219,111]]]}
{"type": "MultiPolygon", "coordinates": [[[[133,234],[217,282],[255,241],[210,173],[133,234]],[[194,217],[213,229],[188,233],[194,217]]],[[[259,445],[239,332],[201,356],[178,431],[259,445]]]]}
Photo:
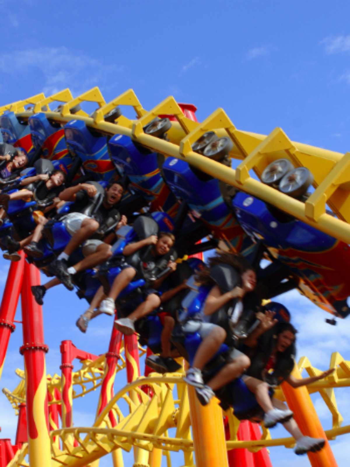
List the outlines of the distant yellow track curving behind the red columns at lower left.
{"type": "MultiPolygon", "coordinates": [[[[139,347],[139,357],[144,355],[146,350],[142,347],[139,347]]],[[[72,373],[72,385],[73,388],[73,399],[78,397],[84,397],[91,391],[95,391],[102,384],[102,377],[105,372],[105,355],[101,355],[98,359],[94,361],[82,361],[82,367],[78,371],[72,373]]],[[[122,354],[119,356],[119,361],[117,363],[117,372],[126,368],[126,361],[122,354]]],[[[19,404],[26,402],[26,387],[24,381],[24,371],[17,369],[16,374],[21,378],[18,386],[13,390],[9,391],[8,389],[2,389],[2,392],[7,397],[8,401],[11,403],[12,407],[15,410],[15,414],[18,415],[19,404]]],[[[53,399],[49,401],[51,404],[60,404],[61,400],[56,400],[55,398],[55,389],[58,389],[61,392],[62,383],[60,375],[47,376],[48,390],[51,393],[53,399]]]]}

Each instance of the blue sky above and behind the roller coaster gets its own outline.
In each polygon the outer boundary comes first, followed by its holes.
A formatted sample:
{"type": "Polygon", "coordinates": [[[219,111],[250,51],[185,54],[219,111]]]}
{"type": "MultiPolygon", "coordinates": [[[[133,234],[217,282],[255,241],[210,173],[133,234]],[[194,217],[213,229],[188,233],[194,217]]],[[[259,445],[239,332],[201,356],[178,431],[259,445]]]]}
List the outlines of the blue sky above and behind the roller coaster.
{"type": "MultiPolygon", "coordinates": [[[[199,120],[223,107],[239,129],[269,134],[278,126],[293,141],[350,149],[348,1],[0,0],[0,13],[0,105],[66,87],[76,96],[95,85],[108,101],[133,88],[146,109],[173,95],[195,104],[199,120]]],[[[7,267],[1,259],[2,284],[7,267]]],[[[324,324],[325,312],[296,293],[282,300],[300,329],[299,356],[308,355],[322,369],[335,350],[350,360],[349,321],[331,327],[324,324]]],[[[74,323],[84,309],[63,287],[48,294],[43,310],[50,373],[59,371],[63,339],[96,354],[106,351],[111,320],[99,318],[83,335],[74,323]]],[[[20,345],[18,325],[1,387],[16,384],[13,371],[23,368],[20,345]]],[[[348,394],[339,392],[344,423],[350,423],[344,415],[350,412],[348,394]]],[[[329,428],[329,412],[315,399],[329,428]]],[[[0,401],[2,414],[10,414],[4,396],[0,401]]],[[[87,405],[75,405],[76,425],[92,421],[87,405]]],[[[15,420],[4,417],[0,425],[2,437],[13,436],[15,420]]],[[[332,442],[339,466],[345,466],[349,440],[332,442]]],[[[271,458],[274,466],[308,465],[283,448],[271,449],[271,458]]]]}

